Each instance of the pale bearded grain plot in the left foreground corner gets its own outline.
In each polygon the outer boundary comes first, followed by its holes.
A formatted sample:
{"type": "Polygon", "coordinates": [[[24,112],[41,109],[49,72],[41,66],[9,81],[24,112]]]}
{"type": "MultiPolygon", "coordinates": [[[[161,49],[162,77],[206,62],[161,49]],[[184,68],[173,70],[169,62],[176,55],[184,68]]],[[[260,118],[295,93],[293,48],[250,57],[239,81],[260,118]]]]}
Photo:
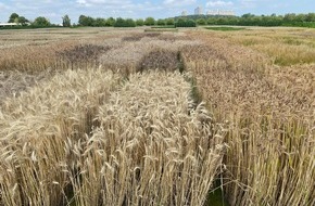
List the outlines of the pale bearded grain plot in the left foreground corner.
{"type": "MultiPolygon", "coordinates": [[[[0,203],[70,203],[74,153],[119,78],[101,69],[66,72],[5,101],[0,113],[0,203]]],[[[97,126],[97,125],[96,125],[97,126]]]]}

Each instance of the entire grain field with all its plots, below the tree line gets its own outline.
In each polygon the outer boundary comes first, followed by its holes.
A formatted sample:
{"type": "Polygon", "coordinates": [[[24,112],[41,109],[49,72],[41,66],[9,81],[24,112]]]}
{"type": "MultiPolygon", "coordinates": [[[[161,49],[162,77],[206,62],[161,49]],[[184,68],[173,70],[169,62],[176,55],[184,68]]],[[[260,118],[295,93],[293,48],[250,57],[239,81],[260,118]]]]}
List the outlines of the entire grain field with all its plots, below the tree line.
{"type": "Polygon", "coordinates": [[[3,31],[0,205],[315,205],[314,37],[3,31]]]}

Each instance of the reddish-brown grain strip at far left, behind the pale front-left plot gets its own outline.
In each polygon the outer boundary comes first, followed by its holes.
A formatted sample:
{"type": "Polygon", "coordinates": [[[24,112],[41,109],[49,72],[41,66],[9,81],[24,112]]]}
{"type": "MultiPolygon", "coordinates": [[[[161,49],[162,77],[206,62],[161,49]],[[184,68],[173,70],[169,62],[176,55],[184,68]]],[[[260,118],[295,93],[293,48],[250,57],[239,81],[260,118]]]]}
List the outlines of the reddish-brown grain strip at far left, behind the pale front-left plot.
{"type": "Polygon", "coordinates": [[[0,70],[37,75],[49,69],[98,67],[99,56],[118,47],[121,39],[60,41],[0,49],[0,70]]]}

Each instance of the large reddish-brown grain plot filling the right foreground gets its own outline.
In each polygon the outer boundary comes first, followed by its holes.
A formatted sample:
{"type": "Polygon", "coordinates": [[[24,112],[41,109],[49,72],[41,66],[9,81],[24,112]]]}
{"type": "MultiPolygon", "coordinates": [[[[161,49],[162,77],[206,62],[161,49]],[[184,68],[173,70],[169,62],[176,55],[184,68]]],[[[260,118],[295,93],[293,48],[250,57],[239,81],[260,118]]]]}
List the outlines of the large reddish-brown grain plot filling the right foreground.
{"type": "Polygon", "coordinates": [[[216,120],[229,125],[223,176],[230,205],[314,205],[314,67],[301,80],[299,67],[288,73],[209,34],[191,37],[206,47],[184,51],[185,64],[216,120]]]}

